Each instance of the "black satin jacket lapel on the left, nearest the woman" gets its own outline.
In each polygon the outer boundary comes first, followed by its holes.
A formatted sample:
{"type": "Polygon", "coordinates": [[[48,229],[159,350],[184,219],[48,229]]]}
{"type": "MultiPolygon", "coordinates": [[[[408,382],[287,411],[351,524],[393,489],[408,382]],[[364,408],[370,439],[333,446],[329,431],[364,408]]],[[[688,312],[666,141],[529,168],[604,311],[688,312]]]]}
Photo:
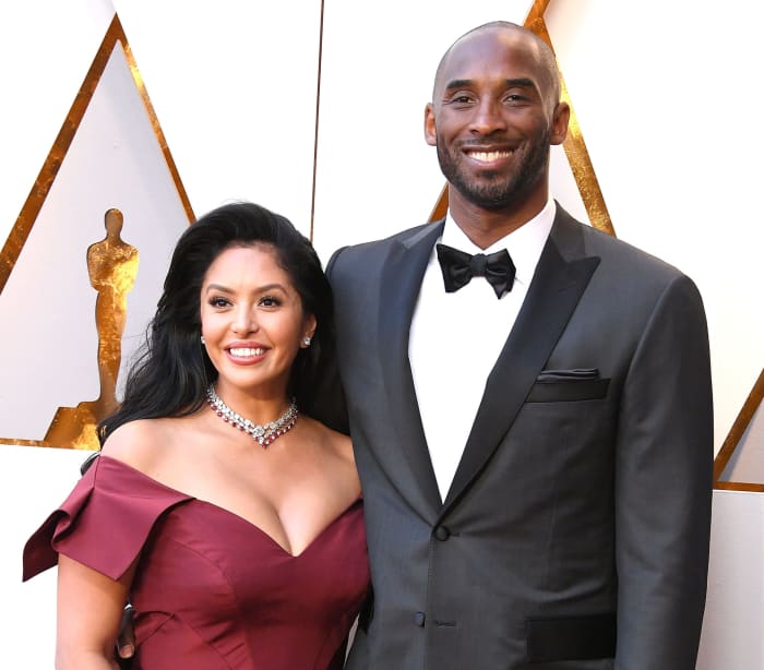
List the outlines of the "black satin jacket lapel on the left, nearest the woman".
{"type": "Polygon", "coordinates": [[[379,350],[390,407],[390,420],[398,434],[396,447],[379,447],[377,457],[402,494],[428,521],[441,506],[419,404],[408,360],[408,334],[422,277],[443,224],[427,226],[395,246],[382,270],[379,350]],[[401,471],[395,455],[403,453],[408,472],[401,471]]]}

